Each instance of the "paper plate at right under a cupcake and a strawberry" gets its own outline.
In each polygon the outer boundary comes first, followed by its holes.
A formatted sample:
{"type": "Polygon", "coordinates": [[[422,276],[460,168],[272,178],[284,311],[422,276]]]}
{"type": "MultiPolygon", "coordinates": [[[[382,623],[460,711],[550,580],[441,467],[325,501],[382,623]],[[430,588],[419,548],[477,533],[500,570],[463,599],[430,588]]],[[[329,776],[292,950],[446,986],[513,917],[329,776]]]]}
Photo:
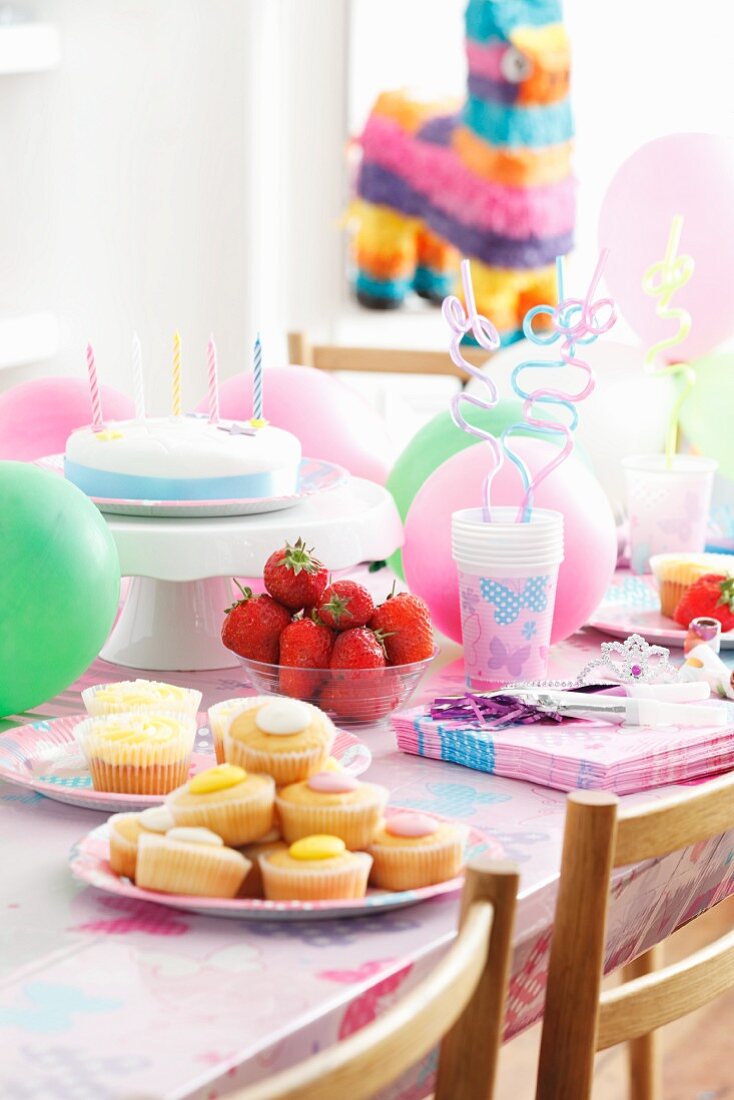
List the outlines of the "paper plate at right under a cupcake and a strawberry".
{"type": "MultiPolygon", "coordinates": [[[[686,631],[660,612],[660,600],[651,578],[629,576],[607,588],[587,626],[613,638],[627,638],[640,634],[646,641],[657,646],[680,646],[686,631]]],[[[721,636],[722,649],[734,649],[734,630],[721,636]]]]}

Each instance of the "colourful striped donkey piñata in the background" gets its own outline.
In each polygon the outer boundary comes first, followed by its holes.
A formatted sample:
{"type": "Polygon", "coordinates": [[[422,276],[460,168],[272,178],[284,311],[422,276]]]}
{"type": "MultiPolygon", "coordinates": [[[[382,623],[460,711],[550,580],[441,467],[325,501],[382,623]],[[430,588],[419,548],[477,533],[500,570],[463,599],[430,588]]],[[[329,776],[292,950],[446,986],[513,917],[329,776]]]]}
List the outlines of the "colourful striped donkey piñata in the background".
{"type": "Polygon", "coordinates": [[[555,302],[572,245],[568,40],[558,0],[470,0],[465,25],[463,105],[385,92],[360,139],[357,296],[440,301],[469,256],[476,308],[507,342],[555,302]]]}

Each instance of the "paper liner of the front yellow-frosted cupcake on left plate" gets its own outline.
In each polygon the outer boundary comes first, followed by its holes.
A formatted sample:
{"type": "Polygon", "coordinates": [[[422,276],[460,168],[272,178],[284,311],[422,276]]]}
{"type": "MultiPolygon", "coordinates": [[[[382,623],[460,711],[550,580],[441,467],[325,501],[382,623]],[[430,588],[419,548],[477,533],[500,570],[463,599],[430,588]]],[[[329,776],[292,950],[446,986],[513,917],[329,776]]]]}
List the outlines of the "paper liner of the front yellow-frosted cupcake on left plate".
{"type": "MultiPolygon", "coordinates": [[[[176,721],[178,737],[165,743],[151,739],[140,745],[119,745],[116,748],[96,728],[105,728],[105,718],[85,718],[76,726],[74,735],[87,760],[96,791],[167,794],[186,782],[196,737],[196,721],[167,711],[157,713],[176,721]]],[[[114,717],[125,715],[134,718],[140,716],[140,712],[134,714],[127,711],[114,717]]]]}

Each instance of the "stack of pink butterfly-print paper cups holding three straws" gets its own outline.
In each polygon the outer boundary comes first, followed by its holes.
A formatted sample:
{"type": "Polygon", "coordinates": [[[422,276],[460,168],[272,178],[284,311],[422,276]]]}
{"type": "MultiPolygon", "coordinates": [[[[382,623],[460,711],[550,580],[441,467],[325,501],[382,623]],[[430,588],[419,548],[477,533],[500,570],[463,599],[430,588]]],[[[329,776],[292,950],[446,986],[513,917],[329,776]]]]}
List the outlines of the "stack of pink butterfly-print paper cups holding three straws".
{"type": "Polygon", "coordinates": [[[451,551],[459,573],[467,683],[491,690],[515,680],[541,680],[548,668],[563,516],[534,508],[481,508],[451,516],[451,551]]]}

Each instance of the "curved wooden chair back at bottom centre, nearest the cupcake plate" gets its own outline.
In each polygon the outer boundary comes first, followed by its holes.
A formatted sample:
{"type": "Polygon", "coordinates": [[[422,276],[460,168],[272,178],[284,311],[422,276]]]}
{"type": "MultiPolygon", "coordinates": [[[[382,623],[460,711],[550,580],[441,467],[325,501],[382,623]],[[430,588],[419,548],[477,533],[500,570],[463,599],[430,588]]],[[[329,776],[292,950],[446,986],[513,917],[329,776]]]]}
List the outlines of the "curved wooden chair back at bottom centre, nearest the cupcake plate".
{"type": "Polygon", "coordinates": [[[357,1034],[228,1100],[365,1100],[442,1036],[435,1100],[491,1100],[518,880],[512,864],[471,864],[459,934],[419,986],[357,1034]]]}

